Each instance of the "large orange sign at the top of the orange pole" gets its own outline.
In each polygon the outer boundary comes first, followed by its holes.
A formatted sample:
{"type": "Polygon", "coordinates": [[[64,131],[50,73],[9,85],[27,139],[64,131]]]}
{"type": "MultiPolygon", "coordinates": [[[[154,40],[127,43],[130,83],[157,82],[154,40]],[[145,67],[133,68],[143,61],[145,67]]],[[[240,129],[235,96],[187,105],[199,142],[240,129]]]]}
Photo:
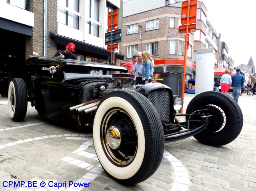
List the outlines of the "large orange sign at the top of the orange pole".
{"type": "Polygon", "coordinates": [[[188,15],[188,0],[182,2],[180,19],[180,23],[182,25],[185,25],[187,23],[187,16],[190,16],[188,23],[196,22],[197,1],[198,0],[190,0],[190,9],[188,15]]]}

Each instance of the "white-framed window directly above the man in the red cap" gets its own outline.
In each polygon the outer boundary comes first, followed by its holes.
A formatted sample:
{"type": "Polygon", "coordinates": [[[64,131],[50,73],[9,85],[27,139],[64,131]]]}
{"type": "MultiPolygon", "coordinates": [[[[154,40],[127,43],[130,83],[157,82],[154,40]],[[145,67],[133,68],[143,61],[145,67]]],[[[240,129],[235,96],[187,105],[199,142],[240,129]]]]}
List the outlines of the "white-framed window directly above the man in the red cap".
{"type": "Polygon", "coordinates": [[[57,20],[59,23],[78,29],[78,12],[79,0],[58,0],[57,20]]]}

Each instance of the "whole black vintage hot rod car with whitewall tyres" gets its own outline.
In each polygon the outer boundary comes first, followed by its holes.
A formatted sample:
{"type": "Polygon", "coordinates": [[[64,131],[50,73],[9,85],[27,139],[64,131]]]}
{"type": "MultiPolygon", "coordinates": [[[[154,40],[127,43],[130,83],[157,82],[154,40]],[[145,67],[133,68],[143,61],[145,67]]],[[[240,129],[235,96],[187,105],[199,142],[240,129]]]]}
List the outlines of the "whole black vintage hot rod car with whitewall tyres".
{"type": "Polygon", "coordinates": [[[232,142],[242,130],[238,104],[223,93],[195,96],[186,109],[172,89],[153,82],[132,86],[133,74],[116,65],[34,57],[26,79],[8,90],[10,117],[21,121],[27,104],[39,115],[79,129],[92,128],[94,147],[106,173],[123,185],[150,177],[160,165],[165,142],[194,136],[210,146],[232,142]],[[179,122],[176,116],[186,116],[179,122]]]}

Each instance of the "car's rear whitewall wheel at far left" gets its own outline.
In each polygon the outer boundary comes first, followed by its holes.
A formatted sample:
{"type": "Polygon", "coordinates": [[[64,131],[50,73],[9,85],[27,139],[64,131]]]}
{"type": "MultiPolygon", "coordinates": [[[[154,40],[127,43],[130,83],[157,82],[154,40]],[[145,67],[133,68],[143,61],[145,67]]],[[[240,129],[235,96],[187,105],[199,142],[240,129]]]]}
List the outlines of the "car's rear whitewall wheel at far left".
{"type": "Polygon", "coordinates": [[[23,79],[12,79],[8,89],[8,99],[10,117],[14,121],[22,121],[28,108],[26,85],[23,79]]]}

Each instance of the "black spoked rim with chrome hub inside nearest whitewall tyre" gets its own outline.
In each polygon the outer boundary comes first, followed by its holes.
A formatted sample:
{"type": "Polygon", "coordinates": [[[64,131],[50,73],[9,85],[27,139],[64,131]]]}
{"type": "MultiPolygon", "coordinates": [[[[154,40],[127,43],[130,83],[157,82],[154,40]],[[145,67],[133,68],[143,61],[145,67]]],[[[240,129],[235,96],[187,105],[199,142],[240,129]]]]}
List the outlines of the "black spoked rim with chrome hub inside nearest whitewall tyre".
{"type": "Polygon", "coordinates": [[[127,165],[132,161],[138,140],[134,122],[127,112],[114,109],[106,114],[102,124],[102,144],[114,163],[127,165]]]}

